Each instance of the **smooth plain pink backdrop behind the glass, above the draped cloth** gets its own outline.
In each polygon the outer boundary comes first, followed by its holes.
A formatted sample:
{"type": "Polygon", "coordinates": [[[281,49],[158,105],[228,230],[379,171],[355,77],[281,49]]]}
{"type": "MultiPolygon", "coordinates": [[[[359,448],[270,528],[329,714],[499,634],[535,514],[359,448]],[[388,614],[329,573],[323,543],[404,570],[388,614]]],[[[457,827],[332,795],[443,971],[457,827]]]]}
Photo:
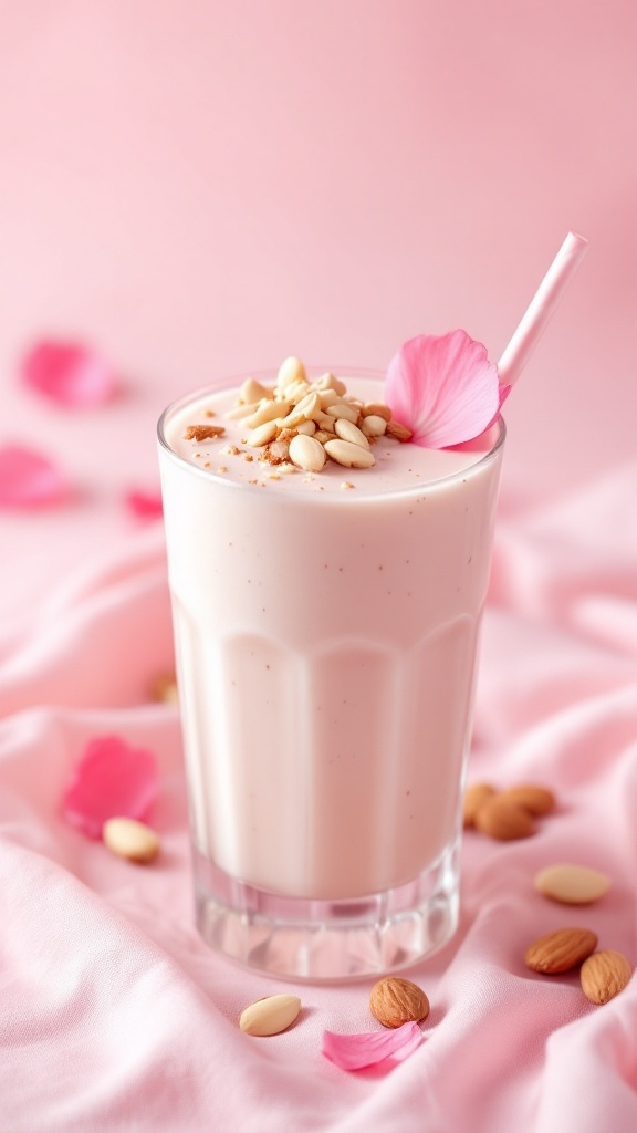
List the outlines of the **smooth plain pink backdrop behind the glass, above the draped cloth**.
{"type": "Polygon", "coordinates": [[[168,400],[453,326],[496,359],[569,228],[591,249],[507,407],[502,506],[632,453],[636,28],[626,0],[3,5],[0,442],[77,495],[0,518],[0,612],[129,526],[168,400]],[[43,331],[100,344],[118,401],[20,391],[43,331]]]}

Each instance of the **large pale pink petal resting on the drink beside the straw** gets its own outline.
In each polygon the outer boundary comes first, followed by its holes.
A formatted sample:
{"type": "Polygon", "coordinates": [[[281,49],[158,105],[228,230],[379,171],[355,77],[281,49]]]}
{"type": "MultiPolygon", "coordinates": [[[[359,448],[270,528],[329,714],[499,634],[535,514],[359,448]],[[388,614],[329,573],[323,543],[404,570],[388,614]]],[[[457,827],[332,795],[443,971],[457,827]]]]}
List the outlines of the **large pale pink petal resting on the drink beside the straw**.
{"type": "Polygon", "coordinates": [[[389,364],[385,401],[415,444],[448,449],[478,436],[498,416],[498,367],[466,331],[421,334],[389,364]]]}

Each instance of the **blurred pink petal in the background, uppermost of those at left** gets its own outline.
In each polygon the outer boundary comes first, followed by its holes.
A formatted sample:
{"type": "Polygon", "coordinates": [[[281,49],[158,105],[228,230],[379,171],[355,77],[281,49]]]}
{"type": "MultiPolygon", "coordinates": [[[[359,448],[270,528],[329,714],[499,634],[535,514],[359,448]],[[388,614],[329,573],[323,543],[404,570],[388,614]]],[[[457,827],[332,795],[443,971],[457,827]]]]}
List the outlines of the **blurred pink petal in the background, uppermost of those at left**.
{"type": "Polygon", "coordinates": [[[112,397],[116,377],[96,350],[82,342],[45,339],[22,363],[26,385],[70,409],[99,406],[112,397]]]}

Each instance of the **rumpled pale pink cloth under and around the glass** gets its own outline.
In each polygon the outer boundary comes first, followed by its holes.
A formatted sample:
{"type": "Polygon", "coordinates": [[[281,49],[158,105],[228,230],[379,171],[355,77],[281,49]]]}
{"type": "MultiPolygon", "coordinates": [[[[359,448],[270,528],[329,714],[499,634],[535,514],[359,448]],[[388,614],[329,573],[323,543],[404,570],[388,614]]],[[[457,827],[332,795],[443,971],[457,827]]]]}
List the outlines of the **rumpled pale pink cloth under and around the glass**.
{"type": "Polygon", "coordinates": [[[178,712],[151,701],[172,666],[161,523],[79,568],[5,642],[0,668],[0,1130],[2,1133],[635,1133],[637,981],[593,1006],[577,973],[542,977],[527,946],[594,929],[636,961],[637,463],[535,511],[502,501],[485,614],[469,782],[552,787],[526,841],[468,833],[453,942],[409,971],[432,1004],[406,1062],[347,1073],[332,1031],[377,1026],[372,981],[298,986],[219,959],[193,925],[178,712]],[[86,742],[117,733],[156,756],[150,867],[65,824],[86,742]],[[605,870],[588,908],[533,889],[544,866],[605,870]],[[270,1039],[250,1002],[299,993],[270,1039]]]}

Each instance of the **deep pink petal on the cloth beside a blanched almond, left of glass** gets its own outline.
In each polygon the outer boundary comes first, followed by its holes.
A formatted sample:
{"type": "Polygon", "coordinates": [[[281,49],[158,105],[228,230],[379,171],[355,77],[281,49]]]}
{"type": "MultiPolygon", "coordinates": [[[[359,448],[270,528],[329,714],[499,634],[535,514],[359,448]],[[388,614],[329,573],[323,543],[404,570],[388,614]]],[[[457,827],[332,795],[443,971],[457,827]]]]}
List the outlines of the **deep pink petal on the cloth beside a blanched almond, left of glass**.
{"type": "Polygon", "coordinates": [[[155,757],[118,735],[91,740],[62,800],[63,816],[90,838],[108,818],[146,817],[158,793],[155,757]]]}

